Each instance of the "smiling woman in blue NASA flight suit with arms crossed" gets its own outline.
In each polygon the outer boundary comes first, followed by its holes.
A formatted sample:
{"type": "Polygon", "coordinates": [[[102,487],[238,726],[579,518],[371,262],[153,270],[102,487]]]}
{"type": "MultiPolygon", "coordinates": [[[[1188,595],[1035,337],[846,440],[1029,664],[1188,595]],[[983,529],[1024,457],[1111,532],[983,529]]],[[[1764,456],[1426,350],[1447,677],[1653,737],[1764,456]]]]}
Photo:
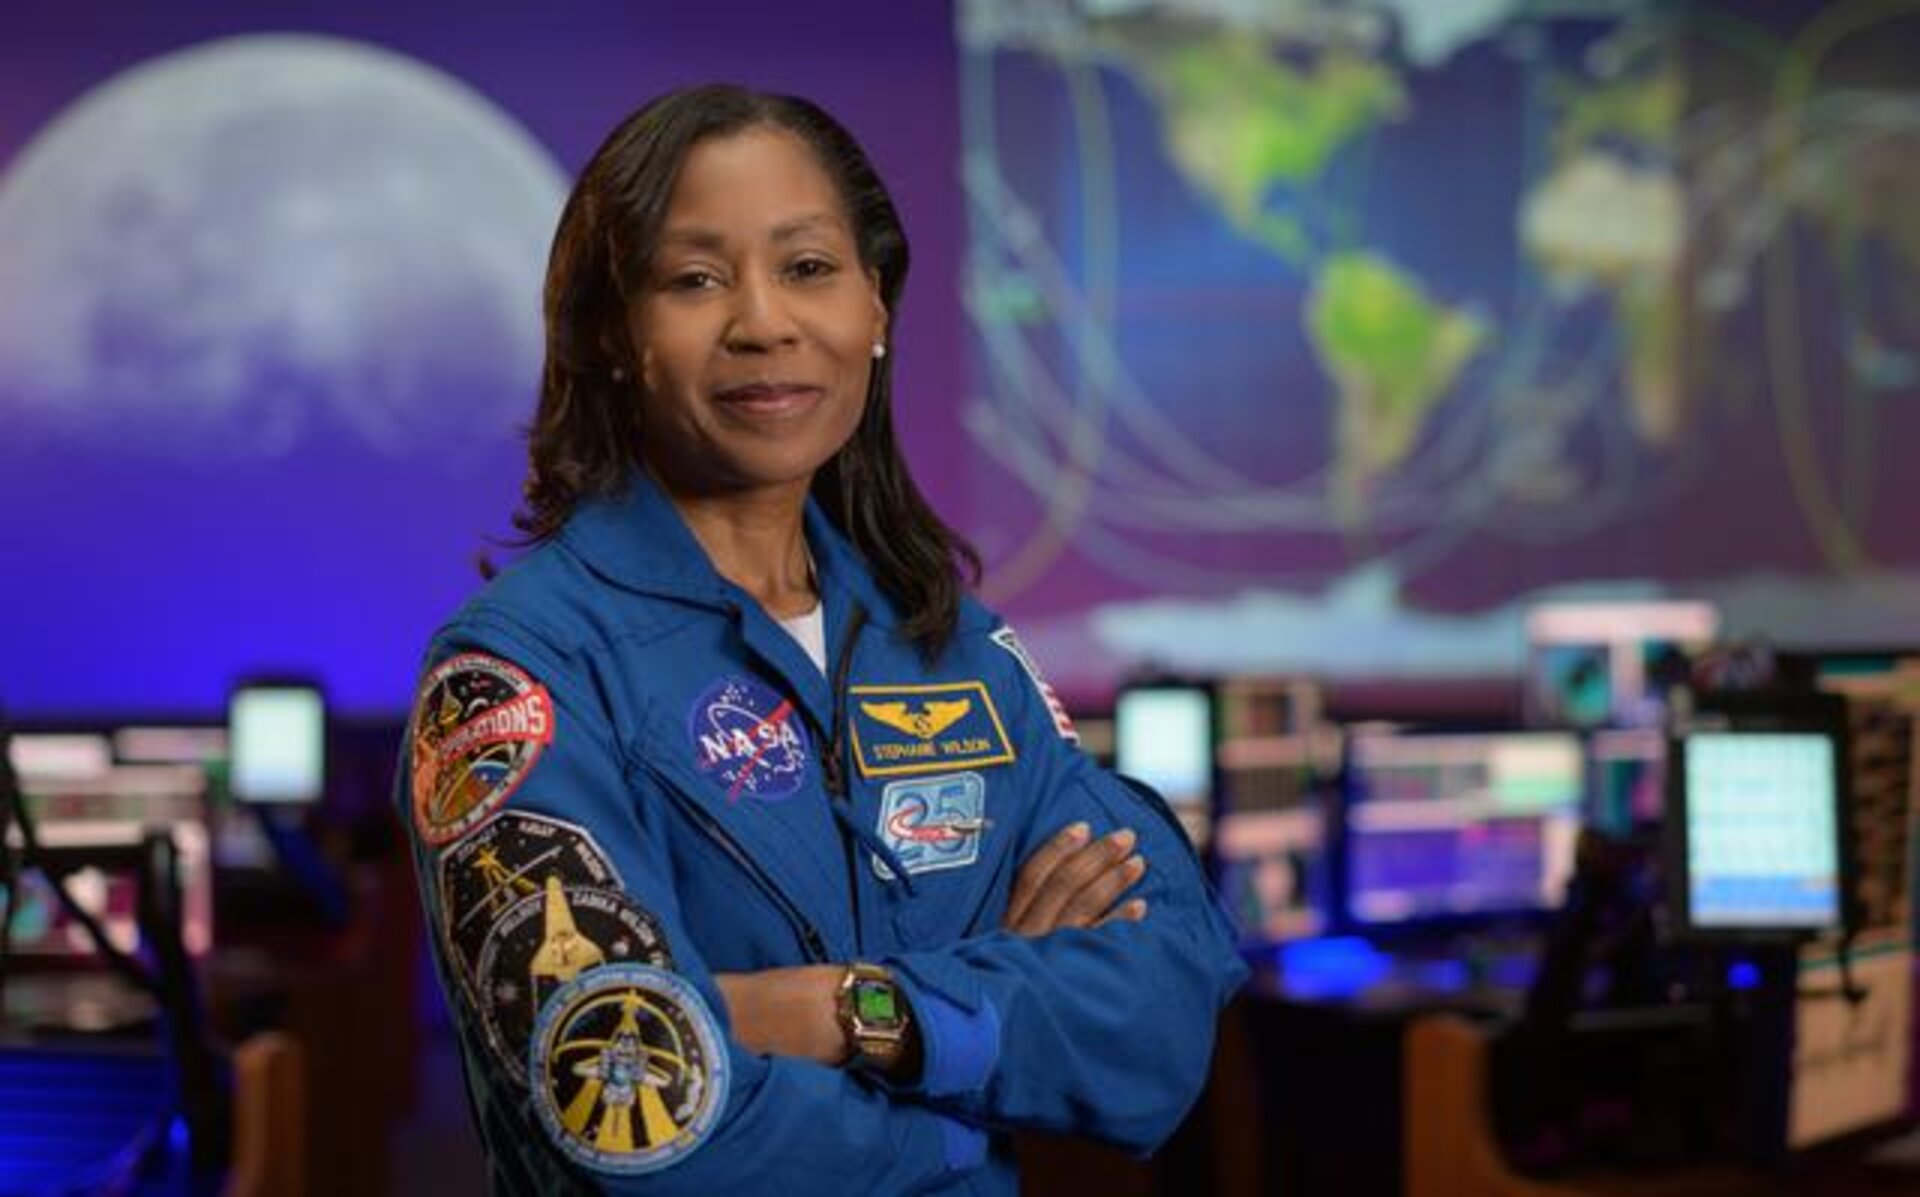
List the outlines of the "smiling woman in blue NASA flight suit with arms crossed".
{"type": "Polygon", "coordinates": [[[795,98],[664,96],[566,204],[536,548],[434,640],[401,784],[497,1191],[1012,1191],[1006,1128],[1144,1151],[1204,1082],[1240,965],[964,592],[904,277],[795,98]]]}

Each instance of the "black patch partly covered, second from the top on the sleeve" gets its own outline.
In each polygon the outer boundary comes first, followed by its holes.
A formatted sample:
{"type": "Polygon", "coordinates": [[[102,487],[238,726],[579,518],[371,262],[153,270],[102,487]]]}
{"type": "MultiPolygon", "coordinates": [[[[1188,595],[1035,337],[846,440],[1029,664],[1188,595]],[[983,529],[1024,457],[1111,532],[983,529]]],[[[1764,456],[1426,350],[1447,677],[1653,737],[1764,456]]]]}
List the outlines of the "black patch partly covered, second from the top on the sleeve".
{"type": "Polygon", "coordinates": [[[515,903],[538,895],[549,878],[563,886],[620,888],[620,874],[593,836],[526,811],[501,811],[480,824],[442,853],[438,872],[442,932],[476,1005],[480,947],[515,903]]]}

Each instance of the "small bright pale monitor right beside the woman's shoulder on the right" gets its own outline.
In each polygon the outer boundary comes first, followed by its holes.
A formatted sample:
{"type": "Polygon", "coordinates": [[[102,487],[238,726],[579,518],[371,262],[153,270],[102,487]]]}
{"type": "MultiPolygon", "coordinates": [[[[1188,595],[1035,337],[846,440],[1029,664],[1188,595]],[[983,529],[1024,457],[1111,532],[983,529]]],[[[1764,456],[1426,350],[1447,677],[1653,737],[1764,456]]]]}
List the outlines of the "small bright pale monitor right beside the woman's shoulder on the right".
{"type": "Polygon", "coordinates": [[[1206,851],[1213,807],[1213,692],[1198,684],[1127,686],[1114,699],[1114,769],[1167,799],[1206,851]]]}

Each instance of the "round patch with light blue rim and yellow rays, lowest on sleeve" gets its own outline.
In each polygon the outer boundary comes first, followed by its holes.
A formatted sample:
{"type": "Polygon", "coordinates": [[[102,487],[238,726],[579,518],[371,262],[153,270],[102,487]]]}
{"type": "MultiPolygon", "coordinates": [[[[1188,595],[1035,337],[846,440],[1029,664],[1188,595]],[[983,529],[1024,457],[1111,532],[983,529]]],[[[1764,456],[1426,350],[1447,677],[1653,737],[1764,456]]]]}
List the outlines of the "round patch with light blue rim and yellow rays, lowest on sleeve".
{"type": "Polygon", "coordinates": [[[603,1172],[655,1172],[699,1147],[726,1107],[726,1041],[685,980],[607,965],[563,986],[528,1049],[553,1141],[603,1172]]]}

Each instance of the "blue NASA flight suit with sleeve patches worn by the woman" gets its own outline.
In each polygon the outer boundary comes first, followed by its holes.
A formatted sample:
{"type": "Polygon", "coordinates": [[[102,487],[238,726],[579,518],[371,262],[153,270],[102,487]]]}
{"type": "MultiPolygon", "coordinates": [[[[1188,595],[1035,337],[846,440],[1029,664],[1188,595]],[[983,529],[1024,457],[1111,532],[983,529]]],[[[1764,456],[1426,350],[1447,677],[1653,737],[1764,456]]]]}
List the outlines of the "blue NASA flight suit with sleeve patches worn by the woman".
{"type": "Polygon", "coordinates": [[[929,667],[812,503],[806,536],[831,680],[645,476],[428,651],[399,803],[495,1191],[1010,1193],[1008,1128],[1148,1151],[1200,1093],[1244,966],[1165,805],[985,607],[929,667]],[[1146,918],[1000,930],[1075,820],[1139,834],[1146,918]],[[714,972],[854,959],[908,995],[916,1084],[726,1036],[714,972]]]}

